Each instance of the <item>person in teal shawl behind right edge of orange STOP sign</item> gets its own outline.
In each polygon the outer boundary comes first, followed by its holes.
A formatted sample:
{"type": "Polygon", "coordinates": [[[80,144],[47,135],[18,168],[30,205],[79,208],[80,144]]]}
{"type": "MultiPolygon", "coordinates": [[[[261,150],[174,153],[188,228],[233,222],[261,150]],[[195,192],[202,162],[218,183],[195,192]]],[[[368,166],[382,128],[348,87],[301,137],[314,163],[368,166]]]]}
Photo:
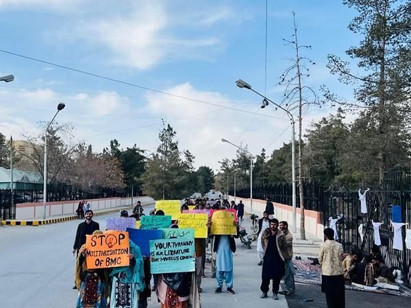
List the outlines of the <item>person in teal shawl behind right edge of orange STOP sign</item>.
{"type": "Polygon", "coordinates": [[[129,266],[112,268],[112,291],[110,295],[110,308],[138,307],[140,292],[145,288],[144,263],[140,247],[129,240],[129,266]]]}

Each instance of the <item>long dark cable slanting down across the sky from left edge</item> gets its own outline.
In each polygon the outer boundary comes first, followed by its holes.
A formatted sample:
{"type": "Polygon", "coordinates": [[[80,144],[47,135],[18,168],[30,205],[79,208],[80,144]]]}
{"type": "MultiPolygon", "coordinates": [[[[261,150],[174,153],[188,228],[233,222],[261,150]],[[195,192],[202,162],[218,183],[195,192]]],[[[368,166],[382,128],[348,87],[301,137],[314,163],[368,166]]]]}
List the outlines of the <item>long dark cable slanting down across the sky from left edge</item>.
{"type": "MultiPolygon", "coordinates": [[[[169,92],[164,92],[164,91],[162,91],[162,90],[157,90],[157,89],[153,89],[153,88],[148,88],[148,87],[146,87],[146,86],[140,86],[140,85],[138,85],[138,84],[132,84],[132,83],[127,82],[127,81],[121,81],[121,80],[119,80],[119,79],[114,79],[114,78],[111,78],[111,77],[105,77],[105,76],[103,76],[103,75],[98,75],[98,74],[95,74],[95,73],[89,73],[89,72],[86,72],[85,70],[79,70],[79,69],[77,69],[77,68],[71,68],[71,67],[69,67],[69,66],[64,66],[64,65],[60,65],[60,64],[55,64],[55,63],[48,62],[48,61],[45,61],[45,60],[37,59],[37,58],[35,58],[35,57],[29,57],[29,56],[27,56],[27,55],[21,55],[21,54],[18,54],[18,53],[13,53],[13,52],[11,52],[11,51],[5,51],[5,50],[3,50],[3,49],[0,49],[0,52],[2,52],[2,53],[7,53],[7,54],[9,54],[9,55],[15,55],[16,57],[23,57],[24,59],[27,59],[27,60],[32,60],[32,61],[36,61],[36,62],[40,62],[40,63],[44,63],[44,64],[49,64],[49,65],[51,65],[51,66],[56,66],[56,67],[59,67],[59,68],[64,68],[64,69],[66,69],[66,70],[72,70],[73,72],[76,72],[76,73],[82,73],[82,74],[84,74],[84,75],[89,75],[89,76],[92,76],[92,77],[97,77],[97,78],[100,78],[100,79],[105,79],[105,80],[113,81],[113,82],[116,82],[116,83],[119,83],[119,84],[124,84],[124,85],[126,85],[126,86],[132,86],[132,87],[135,87],[135,88],[140,88],[140,89],[142,89],[142,90],[148,90],[148,91],[155,92],[155,93],[160,93],[160,94],[164,94],[164,95],[169,95],[169,96],[171,96],[171,97],[177,97],[177,98],[179,98],[179,99],[186,99],[187,101],[194,101],[194,102],[197,102],[197,103],[204,103],[204,104],[212,105],[212,106],[216,106],[216,107],[223,107],[223,108],[226,108],[226,109],[229,109],[229,110],[234,110],[234,111],[237,111],[237,112],[244,112],[244,113],[247,113],[247,114],[255,114],[254,112],[250,112],[250,111],[247,111],[247,110],[237,109],[237,108],[233,108],[233,107],[229,107],[229,106],[225,106],[225,105],[219,105],[219,104],[216,104],[216,103],[210,103],[210,102],[207,102],[207,101],[202,101],[202,100],[200,100],[200,99],[191,99],[190,97],[184,97],[184,96],[182,96],[182,95],[173,94],[173,93],[169,93],[169,92]]],[[[266,117],[272,118],[272,116],[268,116],[268,115],[261,115],[261,116],[266,116],[266,117]]]]}

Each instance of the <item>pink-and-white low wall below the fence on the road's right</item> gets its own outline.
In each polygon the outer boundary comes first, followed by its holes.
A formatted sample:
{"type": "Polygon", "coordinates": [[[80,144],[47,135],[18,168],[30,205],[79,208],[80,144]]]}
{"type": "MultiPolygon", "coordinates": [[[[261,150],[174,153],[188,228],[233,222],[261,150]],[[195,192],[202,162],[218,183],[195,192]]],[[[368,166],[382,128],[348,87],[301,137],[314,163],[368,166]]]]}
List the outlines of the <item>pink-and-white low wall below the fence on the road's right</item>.
{"type": "MultiPolygon", "coordinates": [[[[234,200],[234,196],[229,196],[230,200],[234,200]]],[[[254,199],[253,198],[253,210],[251,211],[251,202],[249,198],[238,198],[236,197],[236,203],[239,203],[240,200],[245,205],[245,211],[253,214],[257,214],[260,218],[264,213],[266,207],[266,201],[261,199],[254,199]]],[[[277,218],[279,221],[286,220],[288,222],[288,226],[292,226],[292,206],[284,205],[281,203],[274,204],[274,217],[277,218]]],[[[321,220],[321,212],[319,211],[311,211],[310,209],[306,209],[304,211],[306,215],[306,231],[316,235],[317,238],[323,238],[324,232],[324,225],[322,224],[321,220]]],[[[301,220],[301,209],[297,207],[297,229],[299,229],[299,222],[301,220]]],[[[291,227],[288,227],[291,229],[291,227]]]]}

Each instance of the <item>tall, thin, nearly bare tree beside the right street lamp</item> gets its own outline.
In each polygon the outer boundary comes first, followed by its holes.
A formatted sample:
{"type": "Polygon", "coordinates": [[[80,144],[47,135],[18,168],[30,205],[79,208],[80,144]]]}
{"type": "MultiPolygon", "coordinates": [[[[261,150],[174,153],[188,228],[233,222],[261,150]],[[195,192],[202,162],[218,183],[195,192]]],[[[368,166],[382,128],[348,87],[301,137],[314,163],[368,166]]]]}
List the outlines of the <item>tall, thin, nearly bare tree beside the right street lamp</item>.
{"type": "MultiPolygon", "coordinates": [[[[302,140],[302,123],[303,123],[303,111],[307,111],[311,105],[319,105],[319,99],[316,96],[316,92],[309,86],[303,85],[303,78],[310,76],[310,68],[308,64],[314,65],[315,63],[308,57],[301,57],[301,49],[310,49],[311,46],[300,45],[297,39],[298,27],[295,22],[295,12],[292,12],[294,22],[294,34],[290,40],[283,39],[287,44],[292,45],[295,49],[295,59],[292,60],[292,65],[284,70],[284,73],[280,77],[279,84],[286,86],[284,91],[283,103],[286,103],[286,107],[290,112],[297,112],[299,133],[298,133],[298,185],[299,185],[299,204],[301,209],[301,221],[300,221],[300,237],[301,240],[306,240],[306,228],[305,228],[305,213],[304,213],[304,192],[303,192],[303,140],[302,140]]],[[[294,138],[294,136],[293,136],[294,138]]]]}

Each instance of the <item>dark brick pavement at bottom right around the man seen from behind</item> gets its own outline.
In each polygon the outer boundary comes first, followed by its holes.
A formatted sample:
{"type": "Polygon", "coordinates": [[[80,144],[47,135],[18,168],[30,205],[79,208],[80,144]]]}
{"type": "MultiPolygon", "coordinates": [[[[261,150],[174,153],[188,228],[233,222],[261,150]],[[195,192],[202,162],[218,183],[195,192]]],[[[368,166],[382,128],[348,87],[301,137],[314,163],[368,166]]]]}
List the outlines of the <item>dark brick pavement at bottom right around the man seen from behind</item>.
{"type": "MultiPolygon", "coordinates": [[[[327,307],[325,294],[321,292],[319,285],[295,285],[296,293],[286,296],[290,308],[321,308],[327,307]],[[303,299],[312,298],[312,302],[303,302],[303,299]]],[[[411,298],[405,296],[394,296],[388,294],[377,294],[345,290],[345,307],[411,307],[411,298]]]]}

